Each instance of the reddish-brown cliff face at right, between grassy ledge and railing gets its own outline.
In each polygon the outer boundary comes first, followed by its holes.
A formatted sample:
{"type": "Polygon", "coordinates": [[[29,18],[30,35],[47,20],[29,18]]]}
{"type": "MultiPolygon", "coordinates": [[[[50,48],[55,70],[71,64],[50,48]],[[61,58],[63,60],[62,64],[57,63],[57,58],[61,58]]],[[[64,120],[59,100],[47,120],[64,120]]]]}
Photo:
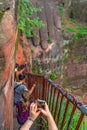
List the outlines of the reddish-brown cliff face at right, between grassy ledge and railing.
{"type": "Polygon", "coordinates": [[[72,88],[73,92],[75,90],[74,94],[82,96],[87,93],[87,37],[77,40],[68,50],[69,58],[64,65],[64,85],[72,88]]]}

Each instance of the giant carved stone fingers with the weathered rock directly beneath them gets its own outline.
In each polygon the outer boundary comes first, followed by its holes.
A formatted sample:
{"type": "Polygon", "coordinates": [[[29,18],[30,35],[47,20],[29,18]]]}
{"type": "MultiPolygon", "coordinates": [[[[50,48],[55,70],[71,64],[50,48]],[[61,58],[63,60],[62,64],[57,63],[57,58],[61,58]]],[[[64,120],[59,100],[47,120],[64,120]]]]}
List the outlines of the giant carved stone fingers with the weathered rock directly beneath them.
{"type": "Polygon", "coordinates": [[[53,0],[31,0],[35,7],[43,7],[42,11],[35,14],[44,27],[34,29],[35,36],[32,39],[31,52],[33,68],[40,68],[44,72],[58,73],[58,66],[62,58],[61,17],[57,8],[57,2],[53,0]]]}

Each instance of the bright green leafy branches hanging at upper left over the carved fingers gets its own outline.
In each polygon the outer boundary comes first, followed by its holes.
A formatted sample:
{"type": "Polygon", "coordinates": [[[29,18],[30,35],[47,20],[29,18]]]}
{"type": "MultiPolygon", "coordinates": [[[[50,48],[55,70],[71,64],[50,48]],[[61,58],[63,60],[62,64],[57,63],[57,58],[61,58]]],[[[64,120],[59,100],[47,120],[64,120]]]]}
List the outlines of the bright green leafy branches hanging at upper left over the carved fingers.
{"type": "Polygon", "coordinates": [[[42,7],[34,7],[30,0],[20,0],[19,6],[18,29],[24,32],[27,37],[33,37],[34,27],[41,28],[44,26],[39,17],[33,18],[33,14],[41,11],[42,7]]]}

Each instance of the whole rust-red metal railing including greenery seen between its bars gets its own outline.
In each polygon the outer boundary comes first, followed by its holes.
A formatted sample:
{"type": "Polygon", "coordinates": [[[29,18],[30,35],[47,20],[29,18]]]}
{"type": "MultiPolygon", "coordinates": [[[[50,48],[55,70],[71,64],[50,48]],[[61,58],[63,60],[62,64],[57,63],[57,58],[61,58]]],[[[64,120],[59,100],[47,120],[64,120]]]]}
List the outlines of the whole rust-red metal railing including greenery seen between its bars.
{"type": "Polygon", "coordinates": [[[38,98],[46,100],[59,130],[83,130],[81,123],[84,116],[87,116],[86,105],[44,76],[27,73],[29,89],[33,83],[36,84],[33,100],[38,98]]]}

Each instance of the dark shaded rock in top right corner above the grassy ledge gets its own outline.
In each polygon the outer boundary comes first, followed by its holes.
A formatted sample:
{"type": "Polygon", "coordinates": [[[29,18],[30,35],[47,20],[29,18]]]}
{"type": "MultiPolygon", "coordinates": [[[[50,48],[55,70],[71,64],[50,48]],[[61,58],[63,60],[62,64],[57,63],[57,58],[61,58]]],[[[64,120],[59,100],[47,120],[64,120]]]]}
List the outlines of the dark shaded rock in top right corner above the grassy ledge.
{"type": "Polygon", "coordinates": [[[87,0],[63,0],[70,18],[87,24],[87,0]]]}

